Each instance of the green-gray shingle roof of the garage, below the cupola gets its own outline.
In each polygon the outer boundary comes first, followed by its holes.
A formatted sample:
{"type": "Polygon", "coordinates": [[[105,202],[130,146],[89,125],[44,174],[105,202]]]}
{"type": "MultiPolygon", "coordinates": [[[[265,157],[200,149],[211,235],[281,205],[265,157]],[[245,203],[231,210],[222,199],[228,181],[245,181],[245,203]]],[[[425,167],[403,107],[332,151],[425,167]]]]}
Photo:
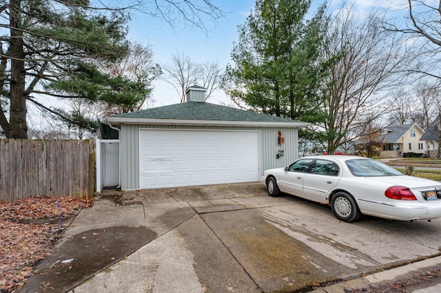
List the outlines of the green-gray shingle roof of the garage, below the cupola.
{"type": "Polygon", "coordinates": [[[152,109],[145,109],[132,113],[124,113],[112,118],[130,118],[130,119],[163,119],[163,120],[205,120],[205,121],[237,121],[237,122],[293,122],[296,120],[265,115],[252,111],[245,111],[215,105],[209,102],[184,102],[181,104],[167,105],[152,109]]]}

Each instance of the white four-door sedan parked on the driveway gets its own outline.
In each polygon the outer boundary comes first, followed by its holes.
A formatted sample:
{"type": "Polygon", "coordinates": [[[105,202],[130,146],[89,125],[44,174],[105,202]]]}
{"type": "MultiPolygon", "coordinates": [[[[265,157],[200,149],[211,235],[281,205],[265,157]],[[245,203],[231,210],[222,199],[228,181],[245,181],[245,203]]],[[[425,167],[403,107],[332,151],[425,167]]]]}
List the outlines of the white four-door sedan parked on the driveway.
{"type": "Polygon", "coordinates": [[[400,221],[441,217],[441,182],[403,175],[369,158],[305,157],[265,171],[260,181],[271,196],[288,193],[329,204],[347,222],[362,214],[400,221]]]}

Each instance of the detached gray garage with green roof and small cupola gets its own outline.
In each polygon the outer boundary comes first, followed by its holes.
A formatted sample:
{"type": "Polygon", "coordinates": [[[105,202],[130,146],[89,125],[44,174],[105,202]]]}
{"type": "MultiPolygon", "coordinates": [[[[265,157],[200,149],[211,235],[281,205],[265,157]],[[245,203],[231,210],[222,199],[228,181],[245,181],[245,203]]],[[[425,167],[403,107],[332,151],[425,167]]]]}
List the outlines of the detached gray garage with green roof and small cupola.
{"type": "Polygon", "coordinates": [[[298,128],[308,123],[205,102],[111,116],[119,129],[121,190],[258,182],[262,171],[298,158],[298,128]]]}

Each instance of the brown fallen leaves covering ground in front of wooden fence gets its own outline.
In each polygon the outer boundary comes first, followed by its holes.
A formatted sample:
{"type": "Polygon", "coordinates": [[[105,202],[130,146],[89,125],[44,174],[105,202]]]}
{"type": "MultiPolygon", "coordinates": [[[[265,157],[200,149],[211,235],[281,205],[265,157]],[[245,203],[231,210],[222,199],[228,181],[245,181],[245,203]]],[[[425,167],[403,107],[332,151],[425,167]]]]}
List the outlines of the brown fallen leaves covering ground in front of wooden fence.
{"type": "MultiPolygon", "coordinates": [[[[93,199],[89,201],[90,206],[93,203],[93,199]]],[[[86,203],[75,197],[59,197],[59,204],[61,218],[66,219],[86,203]]],[[[50,250],[65,228],[60,227],[57,197],[37,196],[0,202],[0,239],[8,255],[3,257],[2,254],[0,259],[0,292],[15,292],[30,274],[38,273],[38,270],[33,272],[33,266],[51,254],[50,250]]]]}

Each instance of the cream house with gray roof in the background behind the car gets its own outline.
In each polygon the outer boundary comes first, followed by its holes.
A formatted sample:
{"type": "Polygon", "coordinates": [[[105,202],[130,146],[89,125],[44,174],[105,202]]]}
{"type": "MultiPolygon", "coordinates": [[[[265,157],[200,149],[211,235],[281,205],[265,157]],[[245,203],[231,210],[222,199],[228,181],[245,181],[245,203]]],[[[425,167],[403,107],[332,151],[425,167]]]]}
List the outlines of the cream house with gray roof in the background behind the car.
{"type": "Polygon", "coordinates": [[[382,129],[380,140],[383,149],[380,158],[396,158],[424,154],[424,143],[420,141],[424,131],[416,123],[391,125],[382,129]]]}

